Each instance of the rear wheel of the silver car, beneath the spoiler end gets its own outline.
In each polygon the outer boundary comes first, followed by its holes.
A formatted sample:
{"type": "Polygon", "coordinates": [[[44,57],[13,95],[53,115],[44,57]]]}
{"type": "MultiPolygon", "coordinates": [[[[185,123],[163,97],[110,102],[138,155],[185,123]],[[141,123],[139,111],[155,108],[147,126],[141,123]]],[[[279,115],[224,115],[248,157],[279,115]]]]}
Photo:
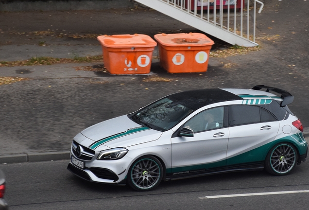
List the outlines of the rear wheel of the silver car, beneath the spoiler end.
{"type": "Polygon", "coordinates": [[[265,161],[267,172],[273,175],[286,175],[296,165],[296,150],[288,143],[278,144],[269,151],[265,161]]]}

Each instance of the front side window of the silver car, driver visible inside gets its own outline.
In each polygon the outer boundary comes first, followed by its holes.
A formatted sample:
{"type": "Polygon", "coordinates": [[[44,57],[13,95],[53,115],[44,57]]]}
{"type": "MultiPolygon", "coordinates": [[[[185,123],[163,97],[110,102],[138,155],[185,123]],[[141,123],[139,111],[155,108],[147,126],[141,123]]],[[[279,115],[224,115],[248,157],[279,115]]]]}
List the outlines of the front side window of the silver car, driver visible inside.
{"type": "Polygon", "coordinates": [[[217,107],[202,111],[192,117],[184,127],[194,133],[223,127],[224,107],[217,107]]]}

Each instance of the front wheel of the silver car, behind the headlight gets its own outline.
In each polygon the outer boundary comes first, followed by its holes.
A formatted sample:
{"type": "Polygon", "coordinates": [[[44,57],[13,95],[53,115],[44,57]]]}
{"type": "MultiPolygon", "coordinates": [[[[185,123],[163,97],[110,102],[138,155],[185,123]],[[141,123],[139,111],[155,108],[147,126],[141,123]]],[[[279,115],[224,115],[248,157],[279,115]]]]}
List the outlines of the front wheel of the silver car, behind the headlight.
{"type": "Polygon", "coordinates": [[[137,191],[150,191],[156,188],[163,177],[163,167],[153,156],[138,158],[128,173],[129,185],[137,191]]]}

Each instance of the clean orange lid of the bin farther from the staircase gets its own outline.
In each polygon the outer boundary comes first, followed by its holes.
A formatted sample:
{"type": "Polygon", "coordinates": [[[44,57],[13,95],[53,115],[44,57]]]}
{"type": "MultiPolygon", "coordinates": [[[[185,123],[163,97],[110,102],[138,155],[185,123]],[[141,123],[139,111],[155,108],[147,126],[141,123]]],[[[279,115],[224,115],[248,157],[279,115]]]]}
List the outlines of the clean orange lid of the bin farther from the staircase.
{"type": "Polygon", "coordinates": [[[130,48],[130,47],[155,47],[156,42],[149,35],[101,35],[98,40],[105,47],[130,48]]]}

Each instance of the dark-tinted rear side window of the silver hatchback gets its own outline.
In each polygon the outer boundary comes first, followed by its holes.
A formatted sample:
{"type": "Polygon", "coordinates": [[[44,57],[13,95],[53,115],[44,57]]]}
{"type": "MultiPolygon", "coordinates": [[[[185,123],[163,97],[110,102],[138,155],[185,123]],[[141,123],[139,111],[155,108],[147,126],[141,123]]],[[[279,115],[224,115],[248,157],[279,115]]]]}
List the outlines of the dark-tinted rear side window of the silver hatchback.
{"type": "Polygon", "coordinates": [[[231,105],[228,113],[229,126],[277,120],[269,111],[256,105],[231,105]]]}

